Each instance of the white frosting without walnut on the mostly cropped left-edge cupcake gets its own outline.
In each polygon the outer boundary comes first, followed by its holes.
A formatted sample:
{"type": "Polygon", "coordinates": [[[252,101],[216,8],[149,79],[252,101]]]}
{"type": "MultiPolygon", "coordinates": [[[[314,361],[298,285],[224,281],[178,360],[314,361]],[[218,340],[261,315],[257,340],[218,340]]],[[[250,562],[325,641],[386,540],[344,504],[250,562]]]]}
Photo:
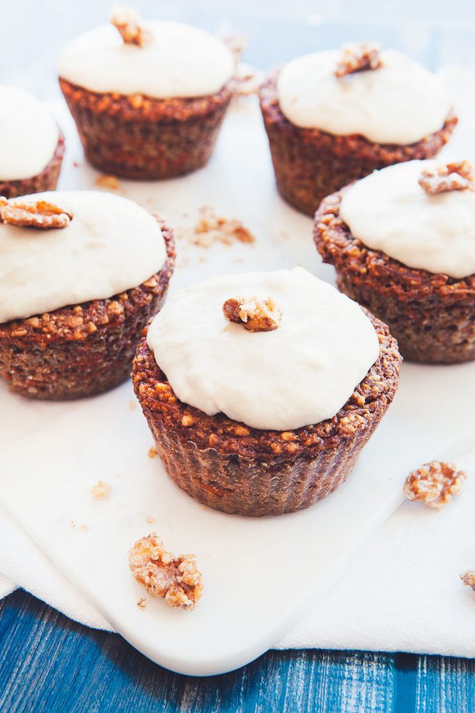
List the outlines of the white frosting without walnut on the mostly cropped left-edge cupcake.
{"type": "Polygon", "coordinates": [[[0,85],[0,180],[41,173],[58,138],[58,125],[41,101],[18,87],[0,85]]]}

